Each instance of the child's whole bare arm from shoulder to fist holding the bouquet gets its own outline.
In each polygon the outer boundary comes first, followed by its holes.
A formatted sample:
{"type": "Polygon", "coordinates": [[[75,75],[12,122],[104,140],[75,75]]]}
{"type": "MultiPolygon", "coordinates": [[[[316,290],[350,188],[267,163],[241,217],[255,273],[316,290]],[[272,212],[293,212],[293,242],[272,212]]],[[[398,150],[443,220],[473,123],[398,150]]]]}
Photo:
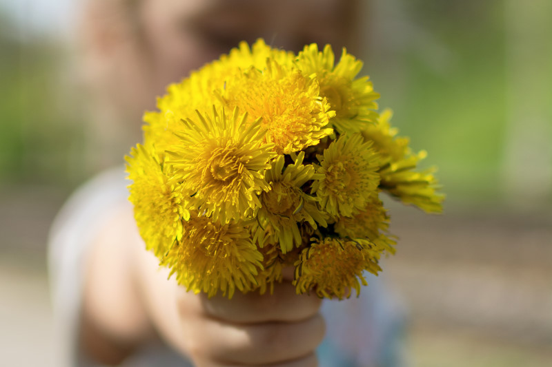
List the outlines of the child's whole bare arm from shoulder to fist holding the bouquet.
{"type": "Polygon", "coordinates": [[[177,286],[144,249],[132,213],[102,229],[88,261],[81,325],[88,353],[115,364],[148,338],[196,366],[317,366],[324,336],[317,297],[295,295],[290,275],[274,295],[208,299],[177,286]]]}

